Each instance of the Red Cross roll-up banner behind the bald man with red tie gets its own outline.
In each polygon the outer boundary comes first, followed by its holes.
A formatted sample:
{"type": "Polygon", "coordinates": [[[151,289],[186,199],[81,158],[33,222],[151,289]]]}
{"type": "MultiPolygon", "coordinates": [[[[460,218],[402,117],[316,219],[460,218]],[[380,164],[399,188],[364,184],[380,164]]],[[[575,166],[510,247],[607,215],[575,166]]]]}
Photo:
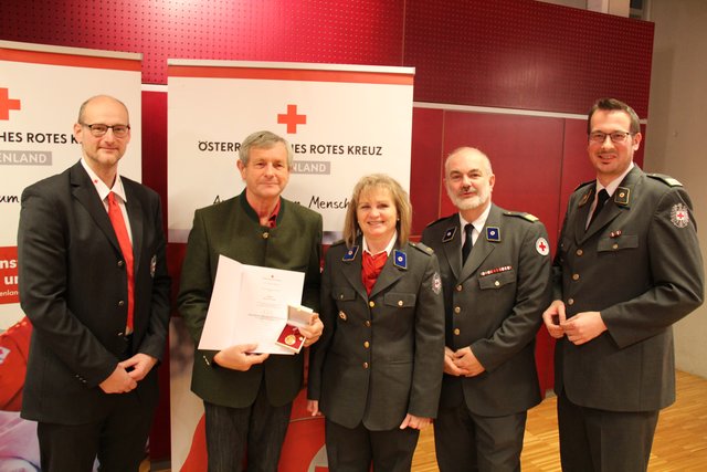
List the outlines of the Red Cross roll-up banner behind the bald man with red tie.
{"type": "Polygon", "coordinates": [[[22,190],[81,158],[72,128],[81,104],[99,94],[115,96],[130,112],[131,140],[119,171],[140,180],[141,60],[135,53],[0,41],[0,470],[39,469],[35,423],[19,417],[31,333],[18,292],[22,190]]]}

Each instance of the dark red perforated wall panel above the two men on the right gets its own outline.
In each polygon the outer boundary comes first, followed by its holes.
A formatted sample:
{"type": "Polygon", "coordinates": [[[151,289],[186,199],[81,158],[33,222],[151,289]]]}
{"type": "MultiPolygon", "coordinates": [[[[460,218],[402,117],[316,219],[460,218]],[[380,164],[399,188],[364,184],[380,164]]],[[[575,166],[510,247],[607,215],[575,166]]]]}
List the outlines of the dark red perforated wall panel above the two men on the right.
{"type": "Polygon", "coordinates": [[[409,0],[415,101],[585,113],[614,96],[645,117],[653,24],[535,0],[409,0]]]}

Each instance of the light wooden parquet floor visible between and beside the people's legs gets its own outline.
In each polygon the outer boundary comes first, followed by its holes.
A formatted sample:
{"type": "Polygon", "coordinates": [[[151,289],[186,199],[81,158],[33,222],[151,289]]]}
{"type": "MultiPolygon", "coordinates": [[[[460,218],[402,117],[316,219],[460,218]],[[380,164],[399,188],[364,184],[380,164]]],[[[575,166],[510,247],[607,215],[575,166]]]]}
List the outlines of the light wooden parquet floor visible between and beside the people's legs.
{"type": "MultiPolygon", "coordinates": [[[[524,472],[561,471],[556,403],[549,397],[528,412],[524,472]]],[[[420,436],[412,471],[437,471],[432,428],[420,436]]],[[[707,471],[707,379],[677,373],[677,401],[661,411],[648,471],[707,471]]]]}

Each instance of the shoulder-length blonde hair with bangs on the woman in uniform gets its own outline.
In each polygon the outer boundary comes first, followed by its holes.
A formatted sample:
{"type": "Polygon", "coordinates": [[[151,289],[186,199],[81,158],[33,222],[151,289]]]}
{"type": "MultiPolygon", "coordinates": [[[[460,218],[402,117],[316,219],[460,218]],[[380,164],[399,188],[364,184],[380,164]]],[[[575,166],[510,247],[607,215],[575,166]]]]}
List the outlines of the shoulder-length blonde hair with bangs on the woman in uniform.
{"type": "Polygon", "coordinates": [[[351,201],[346,210],[346,220],[344,222],[344,241],[348,248],[356,244],[356,238],[361,234],[361,229],[358,225],[358,219],[356,218],[356,210],[361,198],[361,195],[372,189],[386,189],[390,191],[390,195],[395,203],[395,210],[398,210],[398,221],[395,228],[398,230],[398,243],[404,245],[410,238],[410,230],[412,227],[412,206],[410,204],[410,198],[408,192],[398,183],[395,179],[386,174],[371,174],[363,176],[354,187],[354,193],[351,195],[351,201]]]}

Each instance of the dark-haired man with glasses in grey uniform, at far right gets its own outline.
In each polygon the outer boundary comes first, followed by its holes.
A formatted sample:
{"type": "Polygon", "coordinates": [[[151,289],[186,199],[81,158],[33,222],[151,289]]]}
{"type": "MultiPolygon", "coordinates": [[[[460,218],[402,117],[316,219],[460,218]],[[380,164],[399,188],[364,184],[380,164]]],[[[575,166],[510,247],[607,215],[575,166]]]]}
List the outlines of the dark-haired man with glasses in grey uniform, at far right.
{"type": "Polygon", "coordinates": [[[645,471],[675,401],[672,325],[703,302],[703,260],[687,192],[633,164],[635,112],[600,99],[588,133],[597,180],[570,197],[542,315],[558,338],[562,469],[645,471]]]}

